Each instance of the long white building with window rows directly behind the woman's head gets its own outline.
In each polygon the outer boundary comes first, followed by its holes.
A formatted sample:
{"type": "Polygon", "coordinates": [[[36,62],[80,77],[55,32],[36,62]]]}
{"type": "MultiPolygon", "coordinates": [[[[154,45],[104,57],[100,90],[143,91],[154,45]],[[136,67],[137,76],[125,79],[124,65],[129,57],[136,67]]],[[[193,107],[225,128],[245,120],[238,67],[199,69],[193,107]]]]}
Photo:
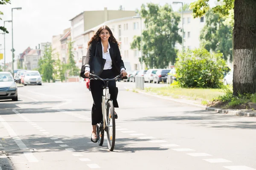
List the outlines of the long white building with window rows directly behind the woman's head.
{"type": "MultiPolygon", "coordinates": [[[[142,30],[145,28],[144,20],[142,21],[142,30]]],[[[141,56],[139,49],[131,49],[131,42],[135,35],[140,36],[141,34],[141,25],[140,18],[133,17],[124,17],[115,20],[109,20],[107,22],[101,23],[99,26],[90,28],[87,31],[84,31],[84,43],[87,44],[95,32],[99,29],[100,26],[106,25],[111,28],[111,31],[114,37],[118,40],[120,44],[120,53],[122,60],[131,65],[131,70],[141,69],[141,64],[139,57],[141,56]]],[[[145,66],[143,65],[143,68],[145,66]]]]}

